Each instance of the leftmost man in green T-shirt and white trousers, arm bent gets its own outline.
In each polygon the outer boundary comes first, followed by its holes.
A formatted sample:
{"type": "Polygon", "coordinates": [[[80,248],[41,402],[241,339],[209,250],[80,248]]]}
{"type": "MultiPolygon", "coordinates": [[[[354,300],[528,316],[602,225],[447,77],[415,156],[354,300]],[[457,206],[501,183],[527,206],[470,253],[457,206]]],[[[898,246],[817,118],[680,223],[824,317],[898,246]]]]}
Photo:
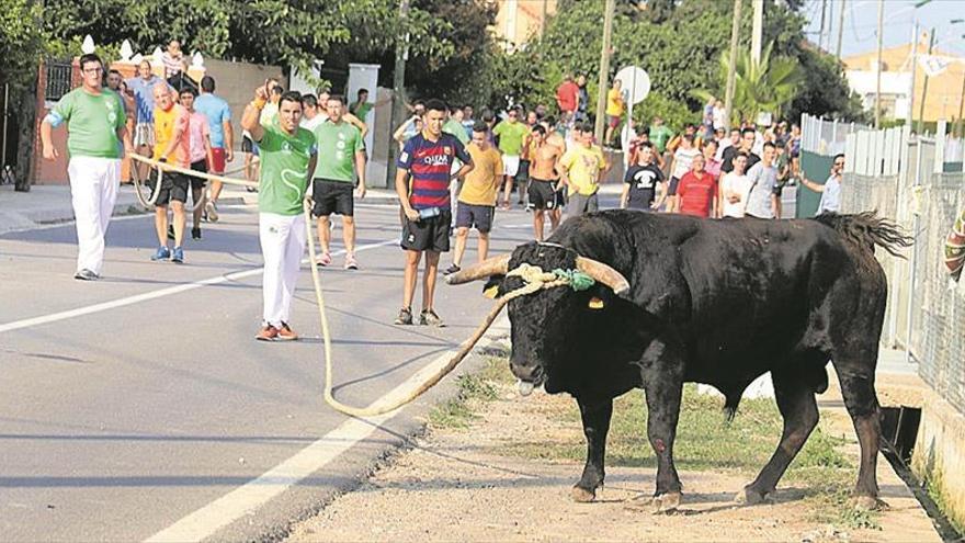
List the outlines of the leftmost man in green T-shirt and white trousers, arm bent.
{"type": "Polygon", "coordinates": [[[41,123],[41,143],[44,158],[56,159],[59,152],[52,133],[67,123],[67,176],[78,246],[73,278],[93,281],[100,278],[104,264],[104,234],[117,200],[121,156],[130,152],[132,147],[124,103],[117,93],[103,88],[101,59],[96,55],[80,57],[80,73],[82,86],[64,94],[41,123]]]}

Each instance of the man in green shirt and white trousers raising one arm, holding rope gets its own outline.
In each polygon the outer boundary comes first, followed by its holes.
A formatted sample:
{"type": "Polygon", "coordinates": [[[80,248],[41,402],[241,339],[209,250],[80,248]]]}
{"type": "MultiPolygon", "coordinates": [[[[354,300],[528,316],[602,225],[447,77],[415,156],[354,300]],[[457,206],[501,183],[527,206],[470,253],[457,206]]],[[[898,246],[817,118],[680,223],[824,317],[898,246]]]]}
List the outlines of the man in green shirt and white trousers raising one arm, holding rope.
{"type": "Polygon", "coordinates": [[[302,128],[302,94],[290,91],[279,101],[279,122],[262,125],[268,103],[264,87],[245,109],[241,127],[251,134],[261,156],[258,180],[258,230],[264,257],[264,313],[259,341],[295,340],[288,326],[295,282],[305,252],[302,201],[311,183],[318,158],[315,134],[302,128]]]}

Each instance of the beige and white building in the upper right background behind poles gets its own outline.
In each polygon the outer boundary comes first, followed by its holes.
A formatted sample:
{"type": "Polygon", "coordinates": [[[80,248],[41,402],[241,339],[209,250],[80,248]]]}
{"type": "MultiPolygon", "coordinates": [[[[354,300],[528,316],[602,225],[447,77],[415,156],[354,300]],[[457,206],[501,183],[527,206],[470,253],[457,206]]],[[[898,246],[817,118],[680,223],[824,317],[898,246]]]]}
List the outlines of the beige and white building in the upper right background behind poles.
{"type": "MultiPolygon", "coordinates": [[[[918,44],[918,55],[928,53],[928,34],[922,34],[918,44]]],[[[885,118],[905,118],[908,111],[908,93],[911,83],[911,44],[889,47],[882,50],[882,110],[885,118]]],[[[928,80],[928,95],[924,102],[924,121],[960,118],[963,92],[965,92],[965,57],[942,49],[932,55],[954,58],[947,68],[928,80]]],[[[867,108],[874,108],[877,86],[877,50],[842,58],[845,75],[852,90],[861,94],[867,108]]],[[[924,91],[924,70],[915,67],[913,114],[918,120],[924,91]]]]}

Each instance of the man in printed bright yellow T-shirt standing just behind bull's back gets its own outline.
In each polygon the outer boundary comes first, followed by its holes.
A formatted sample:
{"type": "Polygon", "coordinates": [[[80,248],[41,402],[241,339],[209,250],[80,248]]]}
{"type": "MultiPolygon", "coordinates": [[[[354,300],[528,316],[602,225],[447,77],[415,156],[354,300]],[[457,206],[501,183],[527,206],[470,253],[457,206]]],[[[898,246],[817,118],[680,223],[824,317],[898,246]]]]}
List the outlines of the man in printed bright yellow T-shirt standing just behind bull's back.
{"type": "Polygon", "coordinates": [[[566,208],[568,217],[600,210],[597,202],[598,183],[600,176],[610,169],[603,151],[593,145],[593,125],[583,124],[578,135],[579,139],[559,159],[559,178],[567,185],[569,194],[566,208]]]}

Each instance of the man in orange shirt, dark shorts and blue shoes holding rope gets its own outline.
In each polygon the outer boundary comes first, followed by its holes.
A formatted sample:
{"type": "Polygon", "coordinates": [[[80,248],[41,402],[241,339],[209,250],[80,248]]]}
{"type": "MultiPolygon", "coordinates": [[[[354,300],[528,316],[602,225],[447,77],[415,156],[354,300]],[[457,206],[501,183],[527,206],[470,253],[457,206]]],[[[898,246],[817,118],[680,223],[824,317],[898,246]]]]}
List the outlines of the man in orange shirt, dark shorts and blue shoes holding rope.
{"type": "MultiPolygon", "coordinates": [[[[190,162],[190,114],[181,104],[174,103],[174,89],[167,83],[155,87],[155,156],[159,162],[189,168],[190,162]]],[[[158,168],[163,168],[159,166],[158,168]]],[[[155,203],[155,229],[158,233],[158,250],[151,260],[168,260],[175,263],[184,262],[184,202],[188,201],[188,176],[174,171],[166,171],[160,186],[157,183],[159,172],[155,172],[154,189],[160,191],[155,203]],[[174,250],[168,249],[168,203],[174,212],[174,250]]]]}

